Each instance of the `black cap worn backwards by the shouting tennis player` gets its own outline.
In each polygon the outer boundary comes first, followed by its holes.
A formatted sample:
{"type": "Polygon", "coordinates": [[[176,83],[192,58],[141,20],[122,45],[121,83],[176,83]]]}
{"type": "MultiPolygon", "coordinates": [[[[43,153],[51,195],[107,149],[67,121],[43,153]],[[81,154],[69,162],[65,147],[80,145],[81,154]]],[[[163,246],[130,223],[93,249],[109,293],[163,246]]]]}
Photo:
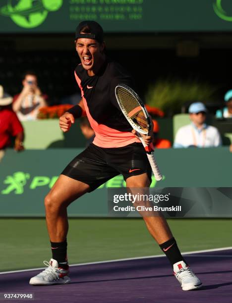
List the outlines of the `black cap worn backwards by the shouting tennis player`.
{"type": "Polygon", "coordinates": [[[94,39],[102,43],[104,41],[104,33],[101,25],[96,21],[82,21],[76,28],[75,40],[78,38],[88,38],[94,39]],[[90,29],[90,34],[80,34],[83,27],[88,26],[90,29]]]}

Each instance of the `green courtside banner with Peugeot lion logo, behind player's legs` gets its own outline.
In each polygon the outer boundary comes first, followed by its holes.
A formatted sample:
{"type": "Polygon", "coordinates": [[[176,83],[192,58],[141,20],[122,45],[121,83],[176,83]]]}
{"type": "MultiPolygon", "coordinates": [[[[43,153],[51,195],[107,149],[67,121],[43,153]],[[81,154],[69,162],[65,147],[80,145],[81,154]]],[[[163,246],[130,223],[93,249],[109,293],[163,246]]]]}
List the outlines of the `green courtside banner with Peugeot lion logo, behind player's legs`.
{"type": "MultiPolygon", "coordinates": [[[[0,216],[44,216],[44,197],[63,168],[81,149],[9,149],[0,162],[0,216]]],[[[164,180],[152,188],[231,187],[232,153],[228,147],[157,150],[164,180]]],[[[125,186],[121,175],[68,207],[69,216],[108,216],[108,188],[125,186]]],[[[220,201],[219,201],[220,203],[220,201]]],[[[228,213],[232,216],[232,213],[228,213]]]]}

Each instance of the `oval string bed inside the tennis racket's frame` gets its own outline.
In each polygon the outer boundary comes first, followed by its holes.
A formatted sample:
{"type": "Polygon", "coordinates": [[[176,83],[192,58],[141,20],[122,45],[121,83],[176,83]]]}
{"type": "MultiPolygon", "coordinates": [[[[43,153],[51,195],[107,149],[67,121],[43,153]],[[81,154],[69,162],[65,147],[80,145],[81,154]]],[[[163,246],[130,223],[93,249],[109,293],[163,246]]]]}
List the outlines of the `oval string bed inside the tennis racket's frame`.
{"type": "Polygon", "coordinates": [[[127,116],[143,131],[148,131],[147,119],[137,99],[126,89],[117,88],[117,97],[127,116]]]}

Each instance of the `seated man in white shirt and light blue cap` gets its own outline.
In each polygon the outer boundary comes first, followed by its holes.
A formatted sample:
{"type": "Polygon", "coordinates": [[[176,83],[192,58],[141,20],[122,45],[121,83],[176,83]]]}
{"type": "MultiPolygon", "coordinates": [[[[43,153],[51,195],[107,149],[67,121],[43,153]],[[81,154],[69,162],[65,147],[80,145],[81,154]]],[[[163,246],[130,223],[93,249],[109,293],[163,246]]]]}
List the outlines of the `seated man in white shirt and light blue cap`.
{"type": "Polygon", "coordinates": [[[221,136],[216,127],[205,123],[207,109],[201,102],[192,103],[188,109],[191,124],[177,131],[174,148],[217,147],[222,145],[221,136]]]}

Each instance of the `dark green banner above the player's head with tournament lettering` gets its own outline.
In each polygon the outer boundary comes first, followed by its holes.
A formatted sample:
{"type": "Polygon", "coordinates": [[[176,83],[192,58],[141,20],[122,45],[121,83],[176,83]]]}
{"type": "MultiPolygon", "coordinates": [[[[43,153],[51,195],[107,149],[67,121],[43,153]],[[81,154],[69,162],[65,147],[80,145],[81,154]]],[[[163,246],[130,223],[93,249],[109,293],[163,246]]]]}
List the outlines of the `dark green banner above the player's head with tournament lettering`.
{"type": "Polygon", "coordinates": [[[82,20],[106,32],[231,31],[231,0],[1,0],[1,33],[72,33],[82,20]]]}

